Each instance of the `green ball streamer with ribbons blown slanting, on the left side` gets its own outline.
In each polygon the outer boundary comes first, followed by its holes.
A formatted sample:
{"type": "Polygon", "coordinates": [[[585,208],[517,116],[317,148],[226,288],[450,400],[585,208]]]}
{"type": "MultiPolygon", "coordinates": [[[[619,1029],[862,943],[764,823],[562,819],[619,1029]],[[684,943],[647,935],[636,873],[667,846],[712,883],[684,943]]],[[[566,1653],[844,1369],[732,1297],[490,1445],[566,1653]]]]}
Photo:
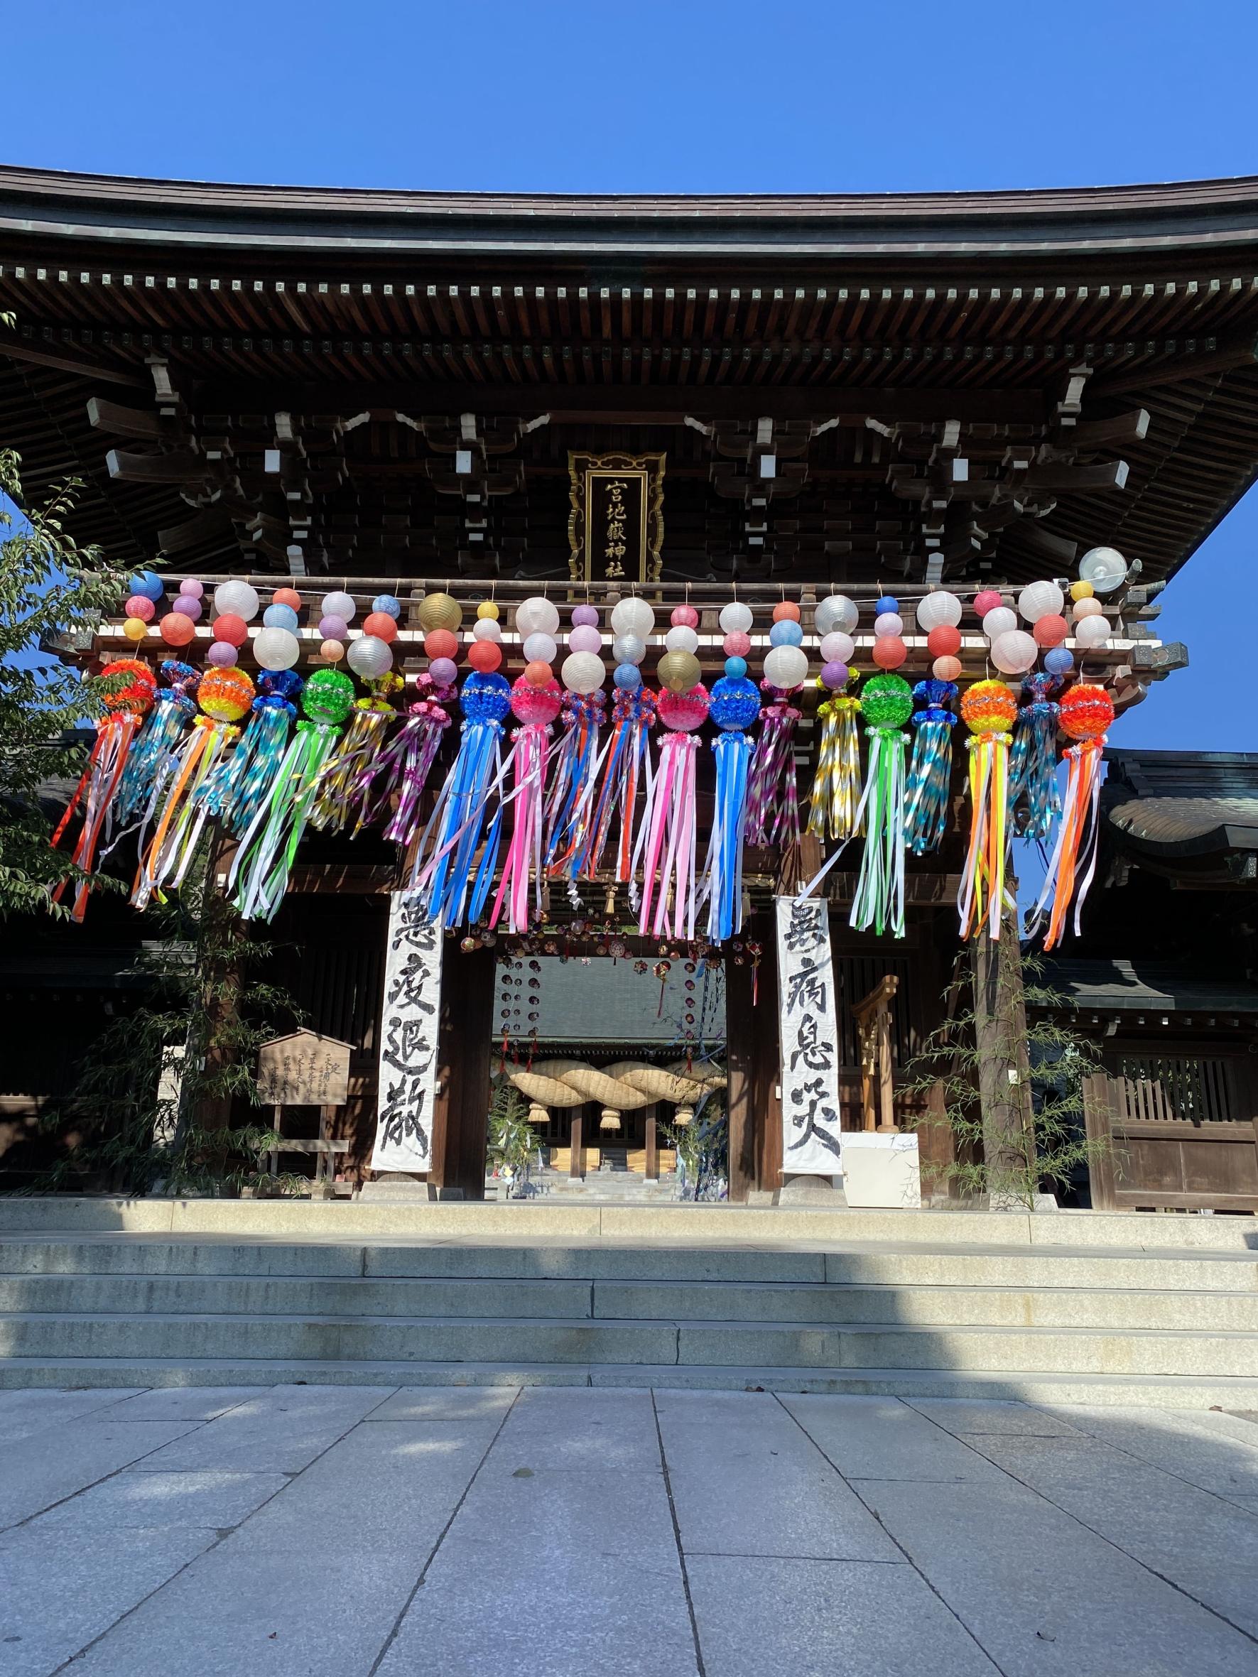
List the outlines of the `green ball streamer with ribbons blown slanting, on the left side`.
{"type": "Polygon", "coordinates": [[[310,818],[319,770],[332,755],[340,724],[354,703],[354,683],[339,669],[315,669],[302,693],[305,721],[297,723],[268,797],[240,840],[228,890],[247,921],[273,919],[310,818]]]}

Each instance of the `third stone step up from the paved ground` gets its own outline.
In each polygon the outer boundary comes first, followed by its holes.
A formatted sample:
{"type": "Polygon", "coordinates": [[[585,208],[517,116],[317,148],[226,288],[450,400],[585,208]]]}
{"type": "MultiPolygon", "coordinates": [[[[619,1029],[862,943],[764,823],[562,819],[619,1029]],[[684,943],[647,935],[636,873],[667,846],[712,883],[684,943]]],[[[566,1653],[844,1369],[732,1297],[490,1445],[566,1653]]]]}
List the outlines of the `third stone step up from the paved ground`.
{"type": "MultiPolygon", "coordinates": [[[[1102,1269],[1104,1266],[1097,1266],[1102,1269]]],[[[0,1275],[0,1311],[491,1316],[918,1327],[1198,1328],[1258,1335],[1258,1290],[862,1281],[0,1275]]]]}

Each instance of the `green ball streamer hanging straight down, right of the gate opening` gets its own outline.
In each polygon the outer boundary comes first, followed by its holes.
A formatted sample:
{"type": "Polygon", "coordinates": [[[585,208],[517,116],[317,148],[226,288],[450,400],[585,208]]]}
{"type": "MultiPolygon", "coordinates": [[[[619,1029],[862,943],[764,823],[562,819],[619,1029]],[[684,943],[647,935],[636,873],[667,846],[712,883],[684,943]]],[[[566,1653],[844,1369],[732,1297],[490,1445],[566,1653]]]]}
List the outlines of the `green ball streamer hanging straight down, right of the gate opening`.
{"type": "Polygon", "coordinates": [[[871,676],[860,689],[869,740],[869,768],[857,830],[866,850],[855,884],[850,924],[882,936],[904,936],[904,723],[912,714],[912,689],[902,676],[871,676]]]}

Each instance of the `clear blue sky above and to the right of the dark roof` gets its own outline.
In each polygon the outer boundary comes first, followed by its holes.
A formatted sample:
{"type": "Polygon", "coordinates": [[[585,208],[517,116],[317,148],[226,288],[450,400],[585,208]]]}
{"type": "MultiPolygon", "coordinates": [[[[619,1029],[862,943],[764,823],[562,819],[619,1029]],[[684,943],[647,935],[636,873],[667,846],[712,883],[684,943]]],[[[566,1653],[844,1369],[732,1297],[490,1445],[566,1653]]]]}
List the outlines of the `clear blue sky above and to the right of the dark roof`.
{"type": "MultiPolygon", "coordinates": [[[[37,168],[720,193],[1258,174],[1255,0],[45,0],[7,8],[3,45],[0,158],[37,168]]],[[[1115,745],[1258,745],[1256,548],[1250,496],[1166,594],[1193,667],[1115,745]]]]}

